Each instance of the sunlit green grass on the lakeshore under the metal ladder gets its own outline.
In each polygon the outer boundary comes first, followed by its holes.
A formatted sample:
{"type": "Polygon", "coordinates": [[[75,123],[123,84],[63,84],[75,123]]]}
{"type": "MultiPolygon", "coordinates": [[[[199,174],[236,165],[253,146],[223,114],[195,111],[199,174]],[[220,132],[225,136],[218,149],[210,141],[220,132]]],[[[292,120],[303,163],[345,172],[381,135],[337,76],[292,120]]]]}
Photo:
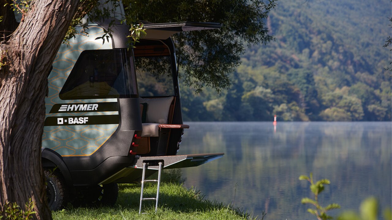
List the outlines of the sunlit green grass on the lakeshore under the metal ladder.
{"type": "MultiPolygon", "coordinates": [[[[177,220],[177,219],[224,219],[245,220],[263,219],[250,216],[240,208],[216,201],[203,199],[203,195],[194,189],[182,185],[179,170],[165,172],[160,186],[158,211],[155,213],[155,201],[143,201],[139,215],[141,184],[119,184],[118,200],[114,207],[67,207],[62,211],[52,212],[54,220],[177,220]]],[[[155,197],[156,184],[145,184],[144,197],[155,197]]]]}

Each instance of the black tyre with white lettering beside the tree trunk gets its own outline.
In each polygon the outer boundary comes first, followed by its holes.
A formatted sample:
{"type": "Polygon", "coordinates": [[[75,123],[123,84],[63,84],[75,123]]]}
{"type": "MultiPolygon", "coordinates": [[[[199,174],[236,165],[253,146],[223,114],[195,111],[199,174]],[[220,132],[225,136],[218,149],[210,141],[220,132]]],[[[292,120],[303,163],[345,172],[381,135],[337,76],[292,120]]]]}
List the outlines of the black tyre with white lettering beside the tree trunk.
{"type": "Polygon", "coordinates": [[[50,209],[57,211],[65,206],[65,185],[58,173],[51,173],[44,170],[46,179],[46,196],[50,209]]]}

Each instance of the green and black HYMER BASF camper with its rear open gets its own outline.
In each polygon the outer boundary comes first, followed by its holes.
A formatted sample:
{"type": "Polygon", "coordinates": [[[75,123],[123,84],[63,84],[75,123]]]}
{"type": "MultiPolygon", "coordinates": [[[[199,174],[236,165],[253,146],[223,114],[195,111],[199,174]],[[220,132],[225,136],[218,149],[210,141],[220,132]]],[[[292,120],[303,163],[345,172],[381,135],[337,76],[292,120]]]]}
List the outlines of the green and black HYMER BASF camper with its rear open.
{"type": "Polygon", "coordinates": [[[189,126],[182,121],[171,39],[181,31],[220,24],[145,22],[147,34],[131,48],[129,27],[119,22],[109,38],[99,38],[109,23],[76,27],[47,78],[42,164],[52,210],[68,202],[113,205],[117,183],[144,181],[161,168],[199,166],[223,156],[177,155],[189,126]]]}

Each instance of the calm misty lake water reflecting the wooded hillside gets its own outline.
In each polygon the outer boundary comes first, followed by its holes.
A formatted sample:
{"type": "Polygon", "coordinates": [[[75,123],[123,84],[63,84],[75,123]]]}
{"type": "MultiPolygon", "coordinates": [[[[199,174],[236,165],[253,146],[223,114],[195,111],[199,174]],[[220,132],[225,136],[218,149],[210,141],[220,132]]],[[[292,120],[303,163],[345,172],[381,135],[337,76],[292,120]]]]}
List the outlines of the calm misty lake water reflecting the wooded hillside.
{"type": "Polygon", "coordinates": [[[312,197],[299,175],[327,178],[319,201],[341,210],[358,210],[371,195],[381,209],[392,200],[391,122],[220,122],[194,123],[185,131],[179,154],[225,156],[182,169],[185,186],[195,186],[209,200],[230,202],[267,220],[315,219],[301,204],[312,197]]]}

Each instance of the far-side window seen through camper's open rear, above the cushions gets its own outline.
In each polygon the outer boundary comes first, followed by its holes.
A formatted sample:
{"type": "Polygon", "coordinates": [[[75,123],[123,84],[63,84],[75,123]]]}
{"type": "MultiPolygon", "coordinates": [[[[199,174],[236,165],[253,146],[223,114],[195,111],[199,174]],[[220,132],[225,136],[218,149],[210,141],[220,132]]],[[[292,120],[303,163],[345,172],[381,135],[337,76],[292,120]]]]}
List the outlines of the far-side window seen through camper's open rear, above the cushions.
{"type": "Polygon", "coordinates": [[[135,57],[139,96],[174,96],[169,56],[135,57]]]}

